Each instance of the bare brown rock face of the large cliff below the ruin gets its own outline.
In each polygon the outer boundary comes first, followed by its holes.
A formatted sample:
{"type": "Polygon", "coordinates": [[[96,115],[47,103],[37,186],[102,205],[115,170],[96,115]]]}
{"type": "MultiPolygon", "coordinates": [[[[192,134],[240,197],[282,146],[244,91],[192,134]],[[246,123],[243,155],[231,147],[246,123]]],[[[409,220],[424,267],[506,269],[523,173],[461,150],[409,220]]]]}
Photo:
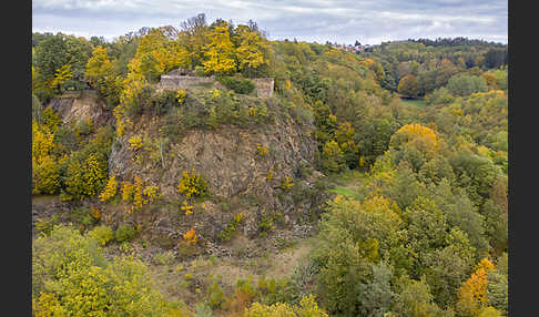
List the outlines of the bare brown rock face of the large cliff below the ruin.
{"type": "MultiPolygon", "coordinates": [[[[134,123],[133,134],[149,135],[160,125],[157,117],[143,115],[141,122],[134,123]]],[[[176,192],[184,171],[194,168],[206,180],[211,197],[204,202],[204,212],[190,215],[182,223],[161,222],[167,227],[165,231],[195,227],[206,239],[215,241],[238,212],[245,215],[246,235],[256,233],[265,213],[281,213],[292,227],[297,215],[308,213],[312,204],[311,197],[293,197],[294,191],[313,185],[313,180],[302,172],[313,168],[318,153],[306,129],[288,117],[256,129],[190,130],[180,142],[163,150],[163,160],[156,154],[153,157],[157,160],[144,158],[149,155],[131,150],[125,141],[130,136],[125,135],[112,146],[109,168],[119,181],[133,182],[134,176],[140,176],[145,185],[157,185],[164,201],[176,202],[176,206],[185,198],[176,192]],[[261,155],[258,145],[267,146],[268,153],[261,155]],[[294,188],[281,187],[286,176],[292,177],[294,188]]]]}

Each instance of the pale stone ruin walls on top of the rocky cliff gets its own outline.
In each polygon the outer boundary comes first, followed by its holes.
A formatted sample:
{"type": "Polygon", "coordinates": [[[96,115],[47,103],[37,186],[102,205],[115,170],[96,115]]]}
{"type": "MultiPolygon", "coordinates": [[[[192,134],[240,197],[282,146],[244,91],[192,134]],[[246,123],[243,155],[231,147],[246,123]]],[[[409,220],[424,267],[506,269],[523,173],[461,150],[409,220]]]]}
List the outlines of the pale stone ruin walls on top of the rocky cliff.
{"type": "MultiPolygon", "coordinates": [[[[251,79],[255,85],[256,95],[258,98],[271,98],[275,81],[273,78],[256,78],[251,79]]],[[[157,88],[160,89],[184,89],[202,83],[215,83],[214,76],[197,76],[193,74],[192,70],[175,69],[167,74],[161,75],[157,88]]]]}

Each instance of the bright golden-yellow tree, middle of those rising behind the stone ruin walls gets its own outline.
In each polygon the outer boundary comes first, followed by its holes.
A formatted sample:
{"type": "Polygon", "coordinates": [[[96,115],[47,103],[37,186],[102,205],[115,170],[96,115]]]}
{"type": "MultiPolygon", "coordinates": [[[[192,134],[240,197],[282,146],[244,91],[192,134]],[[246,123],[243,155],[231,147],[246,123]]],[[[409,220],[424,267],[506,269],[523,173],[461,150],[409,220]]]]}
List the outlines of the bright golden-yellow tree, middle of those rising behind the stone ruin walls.
{"type": "Polygon", "coordinates": [[[206,73],[228,74],[236,70],[234,44],[228,33],[228,23],[224,22],[209,34],[210,43],[204,47],[203,61],[206,73]]]}

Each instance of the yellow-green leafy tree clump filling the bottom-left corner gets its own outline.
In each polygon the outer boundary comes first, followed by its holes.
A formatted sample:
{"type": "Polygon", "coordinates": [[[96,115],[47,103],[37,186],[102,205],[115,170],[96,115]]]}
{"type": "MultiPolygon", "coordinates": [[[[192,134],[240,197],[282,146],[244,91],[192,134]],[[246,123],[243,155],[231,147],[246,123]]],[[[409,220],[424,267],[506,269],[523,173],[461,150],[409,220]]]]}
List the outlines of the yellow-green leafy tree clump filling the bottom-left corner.
{"type": "Polygon", "coordinates": [[[146,266],[122,256],[105,259],[98,241],[55,226],[32,245],[35,316],[182,316],[152,286],[146,266]],[[167,315],[176,310],[177,315],[167,315]],[[63,315],[62,315],[63,314],[63,315]]]}

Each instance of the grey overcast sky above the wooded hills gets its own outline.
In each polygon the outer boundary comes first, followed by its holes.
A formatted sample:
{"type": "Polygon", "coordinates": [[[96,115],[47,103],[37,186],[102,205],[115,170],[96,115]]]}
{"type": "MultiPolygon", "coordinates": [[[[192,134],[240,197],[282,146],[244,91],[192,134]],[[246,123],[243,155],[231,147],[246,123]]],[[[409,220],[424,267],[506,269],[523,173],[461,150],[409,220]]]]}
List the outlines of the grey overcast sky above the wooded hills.
{"type": "Polygon", "coordinates": [[[32,31],[112,39],[205,13],[250,19],[270,39],[379,44],[417,38],[507,43],[507,0],[33,0],[32,31]]]}

